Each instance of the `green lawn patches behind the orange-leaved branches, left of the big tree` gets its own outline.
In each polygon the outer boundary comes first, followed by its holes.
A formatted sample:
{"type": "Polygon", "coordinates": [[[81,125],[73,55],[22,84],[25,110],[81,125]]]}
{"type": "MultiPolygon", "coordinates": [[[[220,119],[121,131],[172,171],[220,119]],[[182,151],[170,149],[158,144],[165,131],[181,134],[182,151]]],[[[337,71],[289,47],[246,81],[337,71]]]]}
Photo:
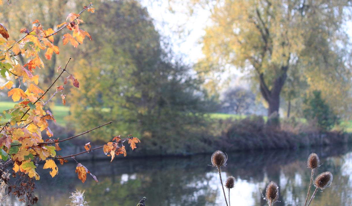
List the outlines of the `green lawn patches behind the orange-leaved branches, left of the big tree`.
{"type": "MultiPolygon", "coordinates": [[[[0,111],[2,112],[4,110],[13,108],[13,105],[15,104],[16,102],[0,101],[0,111]]],[[[54,107],[51,108],[51,112],[54,115],[57,124],[62,126],[65,125],[64,117],[68,116],[69,110],[70,110],[69,107],[59,106],[59,105],[55,105],[54,107]]],[[[10,118],[10,115],[6,115],[6,117],[10,118]]],[[[6,122],[6,120],[1,120],[1,122],[6,122]]]]}

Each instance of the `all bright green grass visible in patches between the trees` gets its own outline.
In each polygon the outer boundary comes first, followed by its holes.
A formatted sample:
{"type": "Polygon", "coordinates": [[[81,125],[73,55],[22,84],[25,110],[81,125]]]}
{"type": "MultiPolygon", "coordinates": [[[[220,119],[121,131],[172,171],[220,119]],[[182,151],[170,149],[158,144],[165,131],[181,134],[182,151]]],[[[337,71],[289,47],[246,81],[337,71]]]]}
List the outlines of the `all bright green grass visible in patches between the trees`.
{"type": "MultiPolygon", "coordinates": [[[[10,109],[13,107],[15,103],[14,102],[5,102],[1,101],[0,102],[0,111],[10,109]]],[[[52,114],[55,116],[56,122],[59,125],[64,126],[65,121],[64,117],[69,115],[69,107],[64,107],[61,105],[55,105],[54,107],[51,108],[52,114]]],[[[9,116],[8,116],[9,117],[9,116]]],[[[209,117],[212,119],[228,119],[231,118],[233,120],[238,120],[238,119],[243,119],[246,117],[246,115],[235,115],[235,114],[222,114],[222,113],[211,113],[209,114],[209,117]]],[[[267,117],[264,117],[264,120],[266,121],[267,117]]],[[[5,122],[6,120],[2,120],[2,122],[5,122]]],[[[306,122],[306,120],[302,119],[302,122],[306,122]]],[[[335,127],[334,129],[344,129],[346,132],[352,133],[352,121],[341,121],[341,124],[339,127],[335,127]]]]}

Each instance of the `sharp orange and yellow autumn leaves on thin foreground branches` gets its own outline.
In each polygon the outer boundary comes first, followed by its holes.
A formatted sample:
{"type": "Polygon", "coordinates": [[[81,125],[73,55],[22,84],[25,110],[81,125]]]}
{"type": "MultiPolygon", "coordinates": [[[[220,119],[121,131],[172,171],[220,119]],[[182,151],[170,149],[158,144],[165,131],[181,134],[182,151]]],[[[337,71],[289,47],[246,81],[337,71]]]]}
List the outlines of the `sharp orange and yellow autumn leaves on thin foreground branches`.
{"type": "MultiPolygon", "coordinates": [[[[61,93],[62,102],[65,105],[65,92],[67,91],[64,90],[64,85],[67,84],[68,81],[72,82],[73,86],[76,88],[79,88],[80,85],[78,79],[67,70],[71,58],[69,58],[65,66],[59,66],[57,68],[59,75],[46,90],[42,90],[37,86],[40,76],[34,75],[34,72],[38,68],[44,68],[44,63],[39,55],[42,50],[46,50],[44,56],[48,60],[52,58],[54,53],[59,53],[59,47],[54,44],[54,36],[58,32],[63,29],[68,29],[68,33],[64,34],[63,37],[64,45],[70,43],[74,47],[77,47],[78,43],[83,43],[86,36],[92,40],[90,34],[82,30],[82,26],[80,25],[83,23],[80,17],[81,13],[86,10],[94,13],[95,9],[92,8],[92,5],[93,4],[90,3],[88,6],[84,6],[82,11],[78,14],[70,13],[65,22],[57,25],[58,29],[56,31],[54,31],[53,28],[45,29],[45,25],[42,25],[39,20],[34,20],[32,22],[33,27],[31,31],[27,28],[20,30],[20,33],[24,33],[24,36],[18,41],[9,40],[9,33],[11,34],[11,32],[8,32],[4,25],[0,25],[0,34],[2,35],[2,37],[0,37],[0,73],[2,78],[8,79],[0,89],[8,89],[8,96],[11,96],[14,102],[21,99],[13,108],[5,110],[3,114],[0,115],[0,120],[1,118],[5,118],[6,115],[10,116],[10,119],[6,123],[0,124],[0,176],[3,176],[2,173],[5,171],[6,166],[13,163],[13,171],[15,173],[23,174],[30,180],[32,180],[32,178],[39,180],[39,174],[36,172],[36,168],[38,167],[37,162],[45,161],[43,169],[50,169],[50,175],[54,177],[58,174],[55,159],[59,160],[62,165],[64,162],[67,162],[65,158],[73,157],[74,159],[77,155],[104,147],[104,152],[109,153],[108,156],[112,156],[111,160],[113,160],[115,155],[124,154],[124,156],[126,156],[125,146],[122,144],[123,142],[128,140],[132,149],[136,148],[136,143],[140,142],[137,137],[133,137],[132,135],[129,135],[126,139],[120,139],[120,136],[117,136],[113,138],[112,142],[108,142],[101,147],[91,148],[88,143],[84,146],[86,150],[83,152],[64,157],[56,154],[57,151],[61,150],[59,147],[60,142],[73,139],[112,123],[105,123],[67,139],[54,139],[54,134],[49,128],[48,120],[54,122],[56,122],[56,120],[50,109],[45,109],[46,104],[59,92],[61,93]],[[24,61],[25,64],[21,64],[24,59],[26,59],[24,61]],[[54,86],[56,82],[59,82],[59,78],[63,73],[68,73],[68,77],[64,78],[63,85],[56,86],[56,91],[52,95],[46,96],[52,86],[54,86]],[[17,81],[18,86],[14,83],[17,81]],[[25,91],[23,90],[24,88],[26,88],[25,91]],[[47,100],[44,101],[44,98],[47,100]],[[42,132],[46,132],[49,139],[44,140],[42,138],[42,132]],[[105,149],[106,146],[108,146],[107,149],[105,149]]],[[[86,167],[78,162],[76,173],[78,173],[78,178],[82,182],[86,180],[87,173],[98,181],[86,167]]],[[[29,190],[28,194],[32,194],[34,186],[31,184],[22,186],[29,190]]],[[[9,188],[10,187],[11,186],[9,186],[9,188]]],[[[18,190],[15,190],[15,185],[11,188],[14,190],[14,194],[19,196],[26,194],[26,192],[18,193],[18,190]]],[[[36,198],[32,198],[31,195],[27,195],[27,197],[31,198],[29,199],[30,202],[36,202],[37,200],[36,198]]],[[[25,198],[22,198],[22,200],[25,201],[25,198]]]]}

